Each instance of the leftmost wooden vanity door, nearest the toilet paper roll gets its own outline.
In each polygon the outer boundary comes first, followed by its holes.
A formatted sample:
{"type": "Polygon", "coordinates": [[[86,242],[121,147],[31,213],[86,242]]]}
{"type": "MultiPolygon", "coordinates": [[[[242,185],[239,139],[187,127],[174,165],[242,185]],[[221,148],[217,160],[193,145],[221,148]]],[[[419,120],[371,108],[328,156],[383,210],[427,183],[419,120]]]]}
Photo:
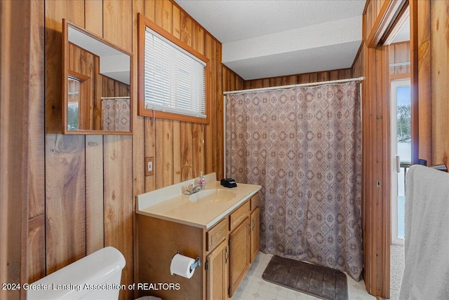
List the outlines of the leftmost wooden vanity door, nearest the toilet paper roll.
{"type": "Polygon", "coordinates": [[[208,300],[227,299],[227,261],[229,252],[224,240],[207,257],[207,298],[208,300]]]}

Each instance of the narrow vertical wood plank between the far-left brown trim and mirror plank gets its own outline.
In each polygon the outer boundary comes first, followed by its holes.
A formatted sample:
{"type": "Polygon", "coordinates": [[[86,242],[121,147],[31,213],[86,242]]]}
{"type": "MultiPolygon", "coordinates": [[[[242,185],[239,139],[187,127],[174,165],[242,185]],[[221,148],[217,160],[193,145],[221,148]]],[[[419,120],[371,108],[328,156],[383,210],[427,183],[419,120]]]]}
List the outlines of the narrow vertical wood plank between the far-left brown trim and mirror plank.
{"type": "MultiPolygon", "coordinates": [[[[44,3],[30,1],[30,19],[33,26],[30,31],[29,70],[29,138],[28,157],[28,230],[29,238],[26,249],[27,282],[34,282],[46,273],[45,264],[45,143],[44,143],[44,107],[45,77],[44,66],[44,3]]],[[[22,15],[21,15],[22,18],[22,15]]],[[[22,19],[20,19],[23,22],[22,19]]],[[[26,23],[25,23],[26,24],[26,23]]],[[[20,41],[22,47],[22,41],[20,41]]],[[[3,55],[1,55],[3,57],[3,55]]],[[[17,60],[15,60],[17,63],[17,60]]],[[[25,64],[23,64],[25,65],[25,64]]],[[[4,76],[1,76],[4,78],[4,76]]],[[[3,89],[3,88],[2,88],[3,89]]],[[[22,112],[23,114],[23,112],[22,112]]],[[[3,139],[2,139],[3,140],[3,139]]],[[[2,281],[4,282],[4,281],[2,281]]],[[[1,296],[0,296],[1,297],[1,296]]]]}

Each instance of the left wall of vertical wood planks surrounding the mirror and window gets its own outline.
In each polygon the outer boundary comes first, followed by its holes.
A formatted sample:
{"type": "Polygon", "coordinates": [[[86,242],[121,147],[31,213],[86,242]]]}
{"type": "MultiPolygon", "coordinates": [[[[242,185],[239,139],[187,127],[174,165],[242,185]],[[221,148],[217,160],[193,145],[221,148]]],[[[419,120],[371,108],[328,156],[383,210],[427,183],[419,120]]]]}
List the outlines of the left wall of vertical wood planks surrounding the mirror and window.
{"type": "MultiPolygon", "coordinates": [[[[34,24],[41,22],[32,41],[46,64],[43,75],[34,79],[36,93],[41,88],[42,95],[36,95],[31,111],[35,126],[30,130],[35,134],[30,147],[36,149],[29,155],[39,172],[31,176],[36,196],[29,198],[27,281],[112,245],[126,259],[122,283],[133,283],[135,195],[196,177],[200,171],[222,174],[221,43],[173,1],[31,2],[36,6],[34,24]],[[137,116],[138,13],[210,59],[209,125],[137,116]],[[62,18],[133,53],[133,135],[61,134],[62,18]],[[154,156],[153,176],[144,175],[145,156],[154,156]]],[[[121,299],[133,296],[133,291],[121,291],[121,299]]]]}

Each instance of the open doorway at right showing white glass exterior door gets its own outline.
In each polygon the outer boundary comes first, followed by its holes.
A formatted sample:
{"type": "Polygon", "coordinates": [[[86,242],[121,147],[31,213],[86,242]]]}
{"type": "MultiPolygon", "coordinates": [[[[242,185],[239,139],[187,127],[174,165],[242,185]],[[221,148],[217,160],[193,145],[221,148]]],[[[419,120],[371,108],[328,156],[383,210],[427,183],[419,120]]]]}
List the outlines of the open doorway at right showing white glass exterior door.
{"type": "MultiPolygon", "coordinates": [[[[390,299],[398,299],[404,270],[406,173],[412,159],[409,10],[395,28],[389,48],[390,94],[390,299]]],[[[416,140],[413,139],[416,143],[416,140]]]]}

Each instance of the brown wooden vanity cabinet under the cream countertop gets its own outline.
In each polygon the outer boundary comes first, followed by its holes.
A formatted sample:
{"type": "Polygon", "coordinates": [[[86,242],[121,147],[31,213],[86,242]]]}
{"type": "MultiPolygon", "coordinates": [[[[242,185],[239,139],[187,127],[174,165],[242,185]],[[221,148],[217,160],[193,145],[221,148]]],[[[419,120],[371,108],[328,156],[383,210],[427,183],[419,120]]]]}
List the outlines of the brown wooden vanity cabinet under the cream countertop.
{"type": "Polygon", "coordinates": [[[259,196],[246,200],[210,229],[138,214],[136,282],[176,282],[180,289],[138,289],[162,299],[229,299],[259,251],[259,196]],[[177,251],[199,257],[192,278],[170,274],[177,251]]]}

